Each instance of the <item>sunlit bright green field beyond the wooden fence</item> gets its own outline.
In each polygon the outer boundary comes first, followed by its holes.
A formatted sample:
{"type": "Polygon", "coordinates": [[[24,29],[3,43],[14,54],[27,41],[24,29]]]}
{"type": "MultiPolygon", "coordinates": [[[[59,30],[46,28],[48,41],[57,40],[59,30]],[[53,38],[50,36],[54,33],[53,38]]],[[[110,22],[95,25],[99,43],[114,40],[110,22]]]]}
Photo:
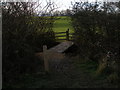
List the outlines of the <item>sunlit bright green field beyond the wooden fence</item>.
{"type": "MultiPolygon", "coordinates": [[[[66,32],[66,30],[68,29],[70,33],[73,33],[70,17],[67,17],[67,16],[56,17],[56,20],[53,26],[53,31],[66,32]]],[[[59,34],[59,35],[65,35],[65,34],[59,34]]],[[[59,37],[59,39],[65,39],[65,38],[66,37],[59,37]]]]}

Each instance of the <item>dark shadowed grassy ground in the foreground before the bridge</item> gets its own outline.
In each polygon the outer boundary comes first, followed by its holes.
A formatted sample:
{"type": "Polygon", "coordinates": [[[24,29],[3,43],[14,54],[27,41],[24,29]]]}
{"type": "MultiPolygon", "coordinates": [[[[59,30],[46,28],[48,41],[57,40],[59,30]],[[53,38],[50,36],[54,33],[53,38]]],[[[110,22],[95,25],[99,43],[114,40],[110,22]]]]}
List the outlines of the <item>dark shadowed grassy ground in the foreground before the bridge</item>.
{"type": "MultiPolygon", "coordinates": [[[[65,54],[63,54],[65,55],[65,54]]],[[[57,57],[57,56],[56,56],[57,57]]],[[[58,57],[59,58],[59,57],[58,57]]],[[[79,56],[65,55],[59,61],[51,60],[50,72],[38,72],[21,77],[15,88],[117,88],[105,76],[96,77],[96,64],[81,62],[79,56]]]]}

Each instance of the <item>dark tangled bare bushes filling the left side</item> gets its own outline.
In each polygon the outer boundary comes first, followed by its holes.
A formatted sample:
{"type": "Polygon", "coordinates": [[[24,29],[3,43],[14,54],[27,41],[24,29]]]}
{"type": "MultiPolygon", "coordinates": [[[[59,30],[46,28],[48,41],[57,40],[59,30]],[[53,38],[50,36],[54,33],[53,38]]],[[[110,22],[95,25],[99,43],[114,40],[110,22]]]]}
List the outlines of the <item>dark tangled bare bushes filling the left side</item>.
{"type": "Polygon", "coordinates": [[[3,88],[19,81],[22,74],[40,71],[42,62],[35,53],[43,45],[55,44],[53,17],[36,16],[33,6],[30,2],[2,3],[3,88]]]}

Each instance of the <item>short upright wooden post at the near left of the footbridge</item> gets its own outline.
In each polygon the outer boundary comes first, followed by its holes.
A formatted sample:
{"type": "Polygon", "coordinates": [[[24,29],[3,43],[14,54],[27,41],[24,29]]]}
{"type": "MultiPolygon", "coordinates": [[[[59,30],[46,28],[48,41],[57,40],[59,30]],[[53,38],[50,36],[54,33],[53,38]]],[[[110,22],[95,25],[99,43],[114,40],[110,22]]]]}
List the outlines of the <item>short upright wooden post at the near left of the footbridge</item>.
{"type": "Polygon", "coordinates": [[[49,72],[49,63],[48,63],[48,52],[47,52],[47,46],[43,46],[43,58],[44,58],[44,67],[45,71],[48,73],[49,72]]]}

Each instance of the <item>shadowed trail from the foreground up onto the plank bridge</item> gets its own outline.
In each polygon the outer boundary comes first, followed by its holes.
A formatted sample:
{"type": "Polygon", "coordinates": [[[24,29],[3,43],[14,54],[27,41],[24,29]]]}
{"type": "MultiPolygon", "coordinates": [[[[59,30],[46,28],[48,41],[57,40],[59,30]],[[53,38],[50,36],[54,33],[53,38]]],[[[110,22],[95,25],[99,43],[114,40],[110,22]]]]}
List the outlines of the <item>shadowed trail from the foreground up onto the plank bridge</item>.
{"type": "MultiPolygon", "coordinates": [[[[63,43],[49,50],[49,74],[38,72],[28,75],[24,82],[17,87],[25,88],[116,88],[106,79],[95,78],[81,64],[78,56],[69,56],[62,53],[72,43],[63,43]],[[66,47],[66,48],[65,48],[66,47]],[[64,50],[63,50],[64,49],[64,50]]],[[[38,53],[37,55],[40,55],[38,53]]],[[[90,67],[91,68],[91,67],[90,67]]],[[[92,69],[92,68],[91,68],[92,69]]]]}

